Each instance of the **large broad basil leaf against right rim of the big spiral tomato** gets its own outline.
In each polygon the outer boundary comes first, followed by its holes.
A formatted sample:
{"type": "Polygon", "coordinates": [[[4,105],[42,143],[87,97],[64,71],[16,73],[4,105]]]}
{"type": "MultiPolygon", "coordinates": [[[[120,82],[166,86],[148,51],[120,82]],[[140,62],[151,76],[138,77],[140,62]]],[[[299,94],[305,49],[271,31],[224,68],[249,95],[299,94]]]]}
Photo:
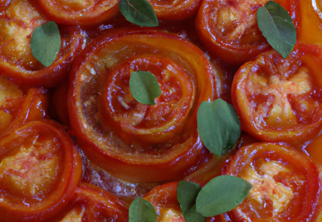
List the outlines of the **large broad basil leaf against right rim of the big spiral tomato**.
{"type": "Polygon", "coordinates": [[[201,141],[210,152],[221,156],[240,136],[240,122],[234,107],[222,99],[202,102],[197,115],[201,141]]]}

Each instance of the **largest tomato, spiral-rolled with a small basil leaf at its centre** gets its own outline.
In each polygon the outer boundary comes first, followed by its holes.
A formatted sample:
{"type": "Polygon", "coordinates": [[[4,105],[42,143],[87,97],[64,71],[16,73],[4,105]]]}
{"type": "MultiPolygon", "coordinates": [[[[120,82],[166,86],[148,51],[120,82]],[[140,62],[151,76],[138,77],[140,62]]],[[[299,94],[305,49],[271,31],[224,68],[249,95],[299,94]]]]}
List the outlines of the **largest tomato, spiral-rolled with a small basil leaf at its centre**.
{"type": "Polygon", "coordinates": [[[204,53],[177,35],[120,29],[93,40],[70,76],[71,127],[86,155],[123,179],[141,182],[183,177],[208,151],[197,131],[197,110],[213,99],[214,82],[204,53]],[[137,102],[132,71],[151,72],[162,95],[137,102]]]}

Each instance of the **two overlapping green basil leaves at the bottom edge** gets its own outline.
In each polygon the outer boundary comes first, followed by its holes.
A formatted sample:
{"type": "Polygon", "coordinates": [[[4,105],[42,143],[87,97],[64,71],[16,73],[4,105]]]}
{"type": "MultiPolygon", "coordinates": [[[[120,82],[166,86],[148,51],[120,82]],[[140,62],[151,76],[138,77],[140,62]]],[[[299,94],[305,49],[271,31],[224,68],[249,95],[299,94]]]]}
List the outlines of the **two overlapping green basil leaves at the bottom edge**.
{"type": "Polygon", "coordinates": [[[253,186],[229,175],[215,177],[203,188],[184,181],[177,187],[178,201],[187,222],[204,222],[206,217],[228,212],[245,200],[253,186]]]}

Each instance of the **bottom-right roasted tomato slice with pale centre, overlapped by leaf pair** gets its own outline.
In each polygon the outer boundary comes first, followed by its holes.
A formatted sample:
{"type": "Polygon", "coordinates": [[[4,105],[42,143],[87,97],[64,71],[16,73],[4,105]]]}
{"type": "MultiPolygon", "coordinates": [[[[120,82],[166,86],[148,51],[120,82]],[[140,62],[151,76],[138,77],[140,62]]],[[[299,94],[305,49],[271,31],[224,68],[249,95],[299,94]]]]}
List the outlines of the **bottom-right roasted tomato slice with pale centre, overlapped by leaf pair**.
{"type": "Polygon", "coordinates": [[[304,153],[278,143],[241,147],[225,175],[253,185],[228,214],[234,221],[311,221],[320,196],[319,173],[304,153]]]}

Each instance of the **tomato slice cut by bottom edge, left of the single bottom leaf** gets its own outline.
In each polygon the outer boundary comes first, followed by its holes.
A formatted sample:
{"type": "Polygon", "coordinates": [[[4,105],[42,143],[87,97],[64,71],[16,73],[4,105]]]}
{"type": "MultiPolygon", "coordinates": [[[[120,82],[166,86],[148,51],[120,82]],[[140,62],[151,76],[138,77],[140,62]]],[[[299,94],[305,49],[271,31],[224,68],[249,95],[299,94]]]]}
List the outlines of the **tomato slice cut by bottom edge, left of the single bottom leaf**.
{"type": "MultiPolygon", "coordinates": [[[[79,183],[68,206],[50,222],[128,221],[128,204],[97,186],[79,183]]],[[[48,221],[48,222],[49,222],[48,221]]]]}

